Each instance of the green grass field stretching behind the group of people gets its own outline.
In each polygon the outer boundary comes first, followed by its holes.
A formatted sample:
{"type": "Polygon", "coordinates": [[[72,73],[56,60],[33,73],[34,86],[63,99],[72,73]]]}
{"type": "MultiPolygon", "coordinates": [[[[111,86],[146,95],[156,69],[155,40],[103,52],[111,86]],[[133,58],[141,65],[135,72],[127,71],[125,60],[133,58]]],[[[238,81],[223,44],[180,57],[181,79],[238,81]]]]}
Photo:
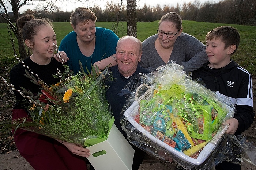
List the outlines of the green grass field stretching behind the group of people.
{"type": "MultiPolygon", "coordinates": [[[[104,27],[113,30],[114,23],[112,22],[97,22],[97,27],[104,27]]],[[[183,32],[195,36],[201,42],[205,43],[205,35],[207,32],[215,27],[222,26],[225,24],[221,23],[207,23],[207,22],[195,22],[195,21],[183,21],[183,32]]],[[[241,41],[237,52],[232,56],[238,64],[247,69],[253,76],[256,76],[256,27],[254,26],[243,26],[243,25],[233,25],[240,32],[241,41]]],[[[126,35],[127,23],[118,23],[118,32],[116,33],[118,37],[126,35]]],[[[137,23],[137,38],[141,41],[145,40],[148,36],[156,34],[158,29],[158,21],[155,22],[138,22],[137,23]]],[[[54,30],[57,35],[58,44],[61,40],[71,32],[73,29],[69,22],[58,22],[54,23],[54,30]]],[[[11,67],[15,61],[13,57],[13,51],[8,40],[7,24],[0,24],[0,66],[2,63],[7,63],[7,67],[11,67]],[[14,61],[14,62],[11,62],[14,61]]],[[[18,45],[16,41],[16,51],[18,52],[18,45]]]]}

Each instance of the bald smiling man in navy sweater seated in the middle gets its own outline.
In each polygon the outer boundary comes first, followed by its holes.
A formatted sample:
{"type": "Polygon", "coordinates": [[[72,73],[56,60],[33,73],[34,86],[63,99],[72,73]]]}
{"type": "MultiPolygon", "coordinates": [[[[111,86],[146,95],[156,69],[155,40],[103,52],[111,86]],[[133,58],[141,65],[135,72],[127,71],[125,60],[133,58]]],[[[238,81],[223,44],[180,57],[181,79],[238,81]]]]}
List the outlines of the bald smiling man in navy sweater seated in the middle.
{"type": "MultiPolygon", "coordinates": [[[[142,55],[142,43],[139,39],[133,36],[124,36],[117,42],[116,47],[116,60],[117,65],[110,67],[113,72],[114,81],[110,85],[110,88],[106,92],[107,100],[111,105],[113,116],[115,118],[114,124],[120,130],[120,132],[127,139],[127,135],[121,128],[120,119],[121,111],[126,100],[129,98],[129,93],[122,92],[129,82],[129,85],[136,83],[133,77],[138,76],[139,73],[149,73],[148,70],[140,67],[138,62],[142,55]]],[[[130,143],[131,144],[131,143],[130,143]]],[[[135,150],[132,170],[138,170],[140,164],[143,161],[145,152],[138,147],[131,144],[135,150]]]]}

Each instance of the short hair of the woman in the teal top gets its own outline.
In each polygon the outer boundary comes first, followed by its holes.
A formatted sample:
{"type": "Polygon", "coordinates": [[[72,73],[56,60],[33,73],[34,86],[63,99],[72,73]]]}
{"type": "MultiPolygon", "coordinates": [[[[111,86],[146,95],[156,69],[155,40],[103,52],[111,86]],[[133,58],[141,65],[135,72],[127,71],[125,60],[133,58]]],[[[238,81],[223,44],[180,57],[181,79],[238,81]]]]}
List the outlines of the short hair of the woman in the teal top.
{"type": "Polygon", "coordinates": [[[96,21],[97,17],[93,11],[85,7],[78,7],[70,16],[70,24],[74,27],[79,23],[88,23],[89,20],[96,21]]]}

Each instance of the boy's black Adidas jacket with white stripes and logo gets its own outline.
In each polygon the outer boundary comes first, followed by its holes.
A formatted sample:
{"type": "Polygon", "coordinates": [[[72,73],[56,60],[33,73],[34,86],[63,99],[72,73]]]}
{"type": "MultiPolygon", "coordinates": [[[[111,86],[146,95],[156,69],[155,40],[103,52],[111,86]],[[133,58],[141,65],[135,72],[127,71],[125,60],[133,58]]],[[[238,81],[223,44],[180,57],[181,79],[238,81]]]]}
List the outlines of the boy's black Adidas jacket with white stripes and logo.
{"type": "Polygon", "coordinates": [[[208,63],[191,74],[192,79],[202,78],[206,87],[216,94],[229,98],[236,106],[234,115],[239,122],[235,135],[247,130],[253,123],[252,77],[251,74],[231,61],[221,69],[211,69],[208,63]]]}

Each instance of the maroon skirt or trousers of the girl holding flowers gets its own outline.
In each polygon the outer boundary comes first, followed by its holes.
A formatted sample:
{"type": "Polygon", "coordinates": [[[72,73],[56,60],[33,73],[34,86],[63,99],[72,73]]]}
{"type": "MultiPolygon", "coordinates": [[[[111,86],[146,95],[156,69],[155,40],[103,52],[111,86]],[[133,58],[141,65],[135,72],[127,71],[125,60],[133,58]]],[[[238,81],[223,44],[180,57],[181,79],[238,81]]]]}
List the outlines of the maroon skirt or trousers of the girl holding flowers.
{"type": "MultiPolygon", "coordinates": [[[[12,112],[12,120],[15,123],[20,123],[19,120],[27,117],[29,115],[24,109],[14,109],[12,112]]],[[[27,119],[27,121],[32,120],[27,119]]],[[[83,157],[72,154],[67,147],[48,136],[18,128],[14,134],[14,141],[20,155],[35,170],[87,170],[83,157]]]]}

